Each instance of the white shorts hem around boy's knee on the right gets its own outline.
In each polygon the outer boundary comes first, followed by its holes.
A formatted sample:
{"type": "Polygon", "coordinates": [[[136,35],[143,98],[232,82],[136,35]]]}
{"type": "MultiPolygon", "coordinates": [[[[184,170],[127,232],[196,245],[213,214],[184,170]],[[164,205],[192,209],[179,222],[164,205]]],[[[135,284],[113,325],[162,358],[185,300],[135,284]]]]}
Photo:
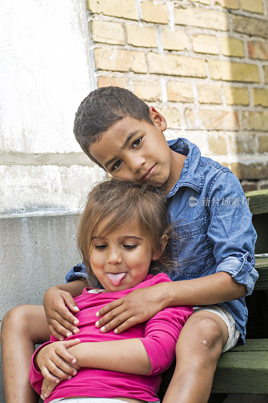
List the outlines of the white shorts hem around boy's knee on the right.
{"type": "Polygon", "coordinates": [[[194,306],[194,311],[208,311],[213,312],[216,315],[220,316],[223,321],[226,323],[228,327],[228,340],[224,348],[222,349],[222,353],[231,350],[239,340],[240,332],[237,330],[235,326],[235,321],[232,315],[221,305],[202,305],[202,306],[194,306]]]}

